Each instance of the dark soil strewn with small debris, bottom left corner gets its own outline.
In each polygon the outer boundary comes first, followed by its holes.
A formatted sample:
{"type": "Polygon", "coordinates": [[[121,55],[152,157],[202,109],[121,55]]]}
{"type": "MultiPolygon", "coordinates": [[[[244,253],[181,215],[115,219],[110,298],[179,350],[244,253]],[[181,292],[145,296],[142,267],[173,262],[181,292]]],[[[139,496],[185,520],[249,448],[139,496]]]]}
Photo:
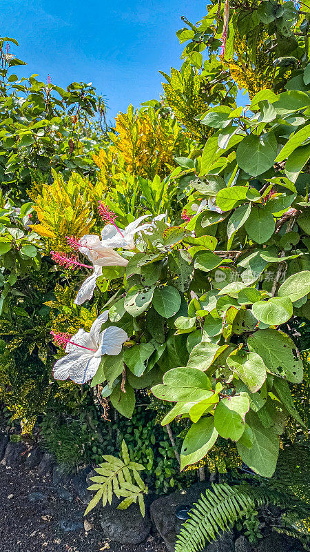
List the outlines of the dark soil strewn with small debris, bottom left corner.
{"type": "Polygon", "coordinates": [[[50,477],[39,477],[23,465],[0,465],[0,552],[165,552],[157,535],[136,546],[116,544],[103,537],[99,513],[83,513],[79,497],[61,500],[50,477]],[[34,502],[30,501],[30,493],[34,502]],[[43,498],[38,500],[37,497],[43,498]],[[33,498],[33,497],[32,497],[33,498]],[[75,530],[72,530],[72,527],[75,530]],[[85,531],[89,529],[88,531],[85,531]],[[69,531],[68,528],[71,530],[69,531]]]}

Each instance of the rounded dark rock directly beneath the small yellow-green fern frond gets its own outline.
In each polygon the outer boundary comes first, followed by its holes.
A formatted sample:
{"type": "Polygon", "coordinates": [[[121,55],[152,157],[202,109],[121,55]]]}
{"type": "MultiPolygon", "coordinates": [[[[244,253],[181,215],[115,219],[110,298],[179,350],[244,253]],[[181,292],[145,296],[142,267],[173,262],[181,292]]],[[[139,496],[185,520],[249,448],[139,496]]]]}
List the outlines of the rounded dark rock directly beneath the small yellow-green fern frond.
{"type": "Polygon", "coordinates": [[[107,504],[100,514],[101,527],[106,538],[120,544],[139,544],[149,535],[151,522],[142,517],[140,509],[132,504],[127,510],[117,510],[118,501],[107,504]]]}

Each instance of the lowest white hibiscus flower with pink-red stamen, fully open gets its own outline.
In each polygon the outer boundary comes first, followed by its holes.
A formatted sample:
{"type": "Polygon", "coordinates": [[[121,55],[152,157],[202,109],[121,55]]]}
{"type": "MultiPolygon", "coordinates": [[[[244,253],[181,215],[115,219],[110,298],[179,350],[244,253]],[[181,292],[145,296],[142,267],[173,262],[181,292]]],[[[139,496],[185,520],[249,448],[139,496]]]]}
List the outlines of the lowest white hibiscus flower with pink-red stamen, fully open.
{"type": "Polygon", "coordinates": [[[105,311],[94,321],[90,332],[79,330],[72,337],[67,334],[54,334],[57,344],[65,345],[65,357],[54,364],[55,380],[70,380],[83,384],[94,377],[103,355],[118,355],[123,343],[128,339],[121,328],[110,326],[101,332],[101,326],[107,322],[109,311],[105,311]]]}

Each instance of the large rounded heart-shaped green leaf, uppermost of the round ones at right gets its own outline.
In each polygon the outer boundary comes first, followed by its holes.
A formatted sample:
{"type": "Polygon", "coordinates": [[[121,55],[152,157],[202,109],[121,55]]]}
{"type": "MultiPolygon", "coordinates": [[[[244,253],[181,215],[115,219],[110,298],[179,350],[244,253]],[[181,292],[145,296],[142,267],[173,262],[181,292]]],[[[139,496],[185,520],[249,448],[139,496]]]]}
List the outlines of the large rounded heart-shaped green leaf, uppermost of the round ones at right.
{"type": "Polygon", "coordinates": [[[238,144],[238,166],[251,176],[261,175],[273,166],[277,155],[277,141],[273,132],[260,136],[251,134],[238,144]]]}

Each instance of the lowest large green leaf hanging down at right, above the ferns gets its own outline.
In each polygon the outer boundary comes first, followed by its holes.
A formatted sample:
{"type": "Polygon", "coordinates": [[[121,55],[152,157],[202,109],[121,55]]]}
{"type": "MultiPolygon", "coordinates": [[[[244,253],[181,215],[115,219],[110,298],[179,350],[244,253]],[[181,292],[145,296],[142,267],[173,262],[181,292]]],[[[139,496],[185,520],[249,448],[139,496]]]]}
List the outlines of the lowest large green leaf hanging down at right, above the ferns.
{"type": "Polygon", "coordinates": [[[270,428],[265,428],[258,419],[258,415],[251,411],[247,413],[245,421],[251,429],[253,442],[251,447],[237,442],[238,453],[243,462],[258,475],[271,477],[278,460],[278,437],[270,428]]]}

